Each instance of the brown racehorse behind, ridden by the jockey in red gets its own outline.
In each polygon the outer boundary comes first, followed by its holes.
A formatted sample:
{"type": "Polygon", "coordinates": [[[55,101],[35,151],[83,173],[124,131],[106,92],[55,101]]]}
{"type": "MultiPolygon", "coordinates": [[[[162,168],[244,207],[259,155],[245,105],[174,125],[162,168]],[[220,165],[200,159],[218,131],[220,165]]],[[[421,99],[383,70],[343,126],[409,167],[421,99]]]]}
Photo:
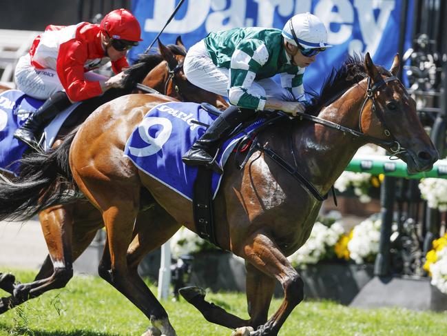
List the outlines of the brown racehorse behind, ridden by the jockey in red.
{"type": "MultiPolygon", "coordinates": [[[[140,56],[136,64],[127,70],[128,75],[123,86],[132,89],[134,82],[143,79],[141,82],[144,85],[179,100],[207,102],[218,108],[227,107],[227,103],[222,97],[202,90],[187,81],[182,68],[186,49],[180,38],[177,39],[176,45],[172,46],[164,46],[159,42],[158,49],[160,50],[159,54],[140,56]]],[[[123,91],[125,92],[125,90],[123,91]]],[[[116,97],[120,94],[121,92],[113,93],[116,97]]],[[[105,102],[105,99],[114,98],[113,95],[103,97],[99,102],[90,103],[83,108],[82,112],[76,111],[76,113],[84,115],[76,122],[83,121],[94,110],[89,110],[92,105],[98,106],[99,103],[105,102]]],[[[62,136],[71,129],[62,130],[62,136]]],[[[59,139],[55,146],[60,143],[59,139]]],[[[146,199],[143,196],[141,203],[144,205],[145,202],[146,199]]],[[[96,230],[103,227],[101,213],[85,199],[80,199],[73,204],[45,209],[39,213],[39,220],[49,255],[37,277],[30,284],[14,284],[14,275],[0,273],[0,288],[12,295],[2,298],[3,304],[0,304],[0,313],[4,313],[29,298],[37,297],[47,290],[65,286],[73,275],[72,262],[91,243],[96,230]]]]}

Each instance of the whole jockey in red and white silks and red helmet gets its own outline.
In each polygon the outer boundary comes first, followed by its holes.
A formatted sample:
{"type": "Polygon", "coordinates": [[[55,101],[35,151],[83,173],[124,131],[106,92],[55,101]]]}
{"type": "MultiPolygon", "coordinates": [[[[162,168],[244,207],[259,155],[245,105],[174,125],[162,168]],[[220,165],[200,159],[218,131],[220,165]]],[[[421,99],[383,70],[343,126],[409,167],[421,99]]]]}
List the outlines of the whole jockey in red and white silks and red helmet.
{"type": "Polygon", "coordinates": [[[73,101],[102,95],[121,85],[129,65],[127,50],[138,45],[141,28],[131,12],[113,10],[100,25],[48,26],[21,57],[15,70],[17,88],[37,99],[48,99],[25,121],[14,137],[33,146],[34,133],[73,101]],[[112,61],[111,78],[91,70],[112,61]]]}

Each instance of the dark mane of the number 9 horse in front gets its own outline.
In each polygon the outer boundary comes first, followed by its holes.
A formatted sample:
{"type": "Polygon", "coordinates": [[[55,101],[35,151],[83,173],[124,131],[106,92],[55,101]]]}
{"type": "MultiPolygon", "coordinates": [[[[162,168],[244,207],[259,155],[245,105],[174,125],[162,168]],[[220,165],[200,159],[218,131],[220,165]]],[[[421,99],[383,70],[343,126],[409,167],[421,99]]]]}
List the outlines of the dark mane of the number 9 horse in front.
{"type": "MultiPolygon", "coordinates": [[[[390,77],[391,72],[382,66],[376,66],[381,75],[390,77]]],[[[364,57],[360,55],[349,56],[340,68],[333,68],[326,78],[320,94],[315,91],[306,92],[312,97],[311,104],[307,106],[306,113],[318,115],[320,110],[329,104],[335,97],[351,88],[355,83],[362,81],[368,75],[364,66],[364,57]]]]}

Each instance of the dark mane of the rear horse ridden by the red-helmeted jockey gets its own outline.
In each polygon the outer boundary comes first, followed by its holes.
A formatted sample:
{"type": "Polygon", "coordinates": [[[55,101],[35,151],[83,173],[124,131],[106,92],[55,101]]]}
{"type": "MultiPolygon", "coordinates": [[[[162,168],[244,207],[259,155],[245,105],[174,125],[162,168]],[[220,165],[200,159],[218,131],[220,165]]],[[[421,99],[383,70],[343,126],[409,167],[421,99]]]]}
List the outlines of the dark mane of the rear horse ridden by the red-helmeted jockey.
{"type": "MultiPolygon", "coordinates": [[[[176,44],[166,46],[174,55],[186,56],[185,49],[176,44]]],[[[125,70],[127,75],[123,81],[123,87],[132,90],[136,83],[140,83],[146,75],[163,61],[163,56],[157,51],[152,54],[140,54],[136,62],[125,70]]]]}

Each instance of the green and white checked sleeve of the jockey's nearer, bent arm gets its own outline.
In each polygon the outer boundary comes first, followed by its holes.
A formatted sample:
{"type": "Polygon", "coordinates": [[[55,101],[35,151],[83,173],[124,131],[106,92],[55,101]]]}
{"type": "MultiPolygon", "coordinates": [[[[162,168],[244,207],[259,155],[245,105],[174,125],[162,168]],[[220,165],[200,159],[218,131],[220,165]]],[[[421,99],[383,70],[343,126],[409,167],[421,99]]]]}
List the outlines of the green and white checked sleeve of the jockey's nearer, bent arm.
{"type": "Polygon", "coordinates": [[[253,92],[256,73],[269,60],[269,50],[258,39],[242,40],[231,56],[228,99],[231,104],[253,110],[264,110],[266,97],[253,92]]]}

